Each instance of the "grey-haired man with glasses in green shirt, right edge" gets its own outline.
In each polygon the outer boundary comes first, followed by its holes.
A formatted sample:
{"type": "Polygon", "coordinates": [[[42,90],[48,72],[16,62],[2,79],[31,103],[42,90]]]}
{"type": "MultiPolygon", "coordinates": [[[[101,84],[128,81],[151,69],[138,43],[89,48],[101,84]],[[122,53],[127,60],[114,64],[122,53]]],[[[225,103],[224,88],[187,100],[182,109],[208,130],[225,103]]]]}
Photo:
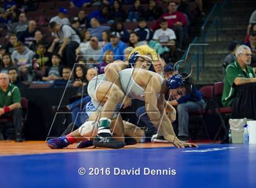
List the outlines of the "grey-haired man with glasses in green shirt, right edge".
{"type": "Polygon", "coordinates": [[[231,107],[236,98],[238,87],[241,84],[256,82],[254,70],[249,67],[252,60],[252,52],[246,45],[240,45],[236,50],[236,61],[227,66],[222,104],[231,107]]]}

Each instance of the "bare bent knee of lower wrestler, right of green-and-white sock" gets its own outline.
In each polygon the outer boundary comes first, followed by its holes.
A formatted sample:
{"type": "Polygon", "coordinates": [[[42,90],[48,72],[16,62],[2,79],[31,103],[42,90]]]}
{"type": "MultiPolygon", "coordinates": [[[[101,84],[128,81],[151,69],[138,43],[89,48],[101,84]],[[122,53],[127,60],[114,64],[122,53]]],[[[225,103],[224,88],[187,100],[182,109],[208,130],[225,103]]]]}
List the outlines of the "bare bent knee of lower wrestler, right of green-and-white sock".
{"type": "Polygon", "coordinates": [[[134,138],[138,143],[141,137],[145,135],[145,132],[140,127],[124,121],[124,135],[134,138]]]}

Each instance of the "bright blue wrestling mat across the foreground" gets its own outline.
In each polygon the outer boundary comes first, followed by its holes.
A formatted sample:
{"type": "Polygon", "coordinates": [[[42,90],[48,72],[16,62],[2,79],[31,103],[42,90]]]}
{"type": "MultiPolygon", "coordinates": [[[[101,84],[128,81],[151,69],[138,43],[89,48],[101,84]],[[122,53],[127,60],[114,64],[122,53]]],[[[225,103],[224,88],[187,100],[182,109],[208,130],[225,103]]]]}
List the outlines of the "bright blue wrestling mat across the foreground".
{"type": "Polygon", "coordinates": [[[256,186],[256,145],[1,156],[0,165],[0,187],[256,186]]]}

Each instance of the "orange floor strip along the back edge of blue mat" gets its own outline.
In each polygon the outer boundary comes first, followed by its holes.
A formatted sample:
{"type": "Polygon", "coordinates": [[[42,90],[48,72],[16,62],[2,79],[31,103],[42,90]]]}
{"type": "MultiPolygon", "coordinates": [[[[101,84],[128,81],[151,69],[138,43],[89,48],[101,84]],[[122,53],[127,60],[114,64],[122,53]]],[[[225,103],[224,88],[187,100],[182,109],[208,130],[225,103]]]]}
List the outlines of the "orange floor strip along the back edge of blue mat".
{"type": "MultiPolygon", "coordinates": [[[[0,141],[0,155],[29,155],[41,153],[64,153],[64,152],[90,152],[94,150],[109,150],[105,148],[88,147],[87,149],[77,149],[77,144],[68,146],[65,149],[50,149],[44,141],[24,141],[15,143],[15,141],[0,141]]],[[[151,147],[169,147],[170,143],[144,143],[132,146],[126,146],[123,149],[151,148],[151,147]]]]}

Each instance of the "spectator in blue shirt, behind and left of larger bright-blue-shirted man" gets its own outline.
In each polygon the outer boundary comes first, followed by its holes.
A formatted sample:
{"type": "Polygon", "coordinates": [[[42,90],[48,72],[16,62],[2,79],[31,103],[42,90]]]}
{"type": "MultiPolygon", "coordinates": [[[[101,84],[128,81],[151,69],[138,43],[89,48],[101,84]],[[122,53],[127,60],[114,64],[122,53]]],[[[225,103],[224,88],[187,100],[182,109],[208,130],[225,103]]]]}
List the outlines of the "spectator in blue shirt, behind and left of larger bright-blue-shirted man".
{"type": "Polygon", "coordinates": [[[92,18],[90,24],[91,28],[88,28],[88,30],[90,31],[91,36],[96,36],[99,41],[102,41],[102,32],[104,30],[110,30],[110,27],[101,25],[97,18],[92,18]]]}

